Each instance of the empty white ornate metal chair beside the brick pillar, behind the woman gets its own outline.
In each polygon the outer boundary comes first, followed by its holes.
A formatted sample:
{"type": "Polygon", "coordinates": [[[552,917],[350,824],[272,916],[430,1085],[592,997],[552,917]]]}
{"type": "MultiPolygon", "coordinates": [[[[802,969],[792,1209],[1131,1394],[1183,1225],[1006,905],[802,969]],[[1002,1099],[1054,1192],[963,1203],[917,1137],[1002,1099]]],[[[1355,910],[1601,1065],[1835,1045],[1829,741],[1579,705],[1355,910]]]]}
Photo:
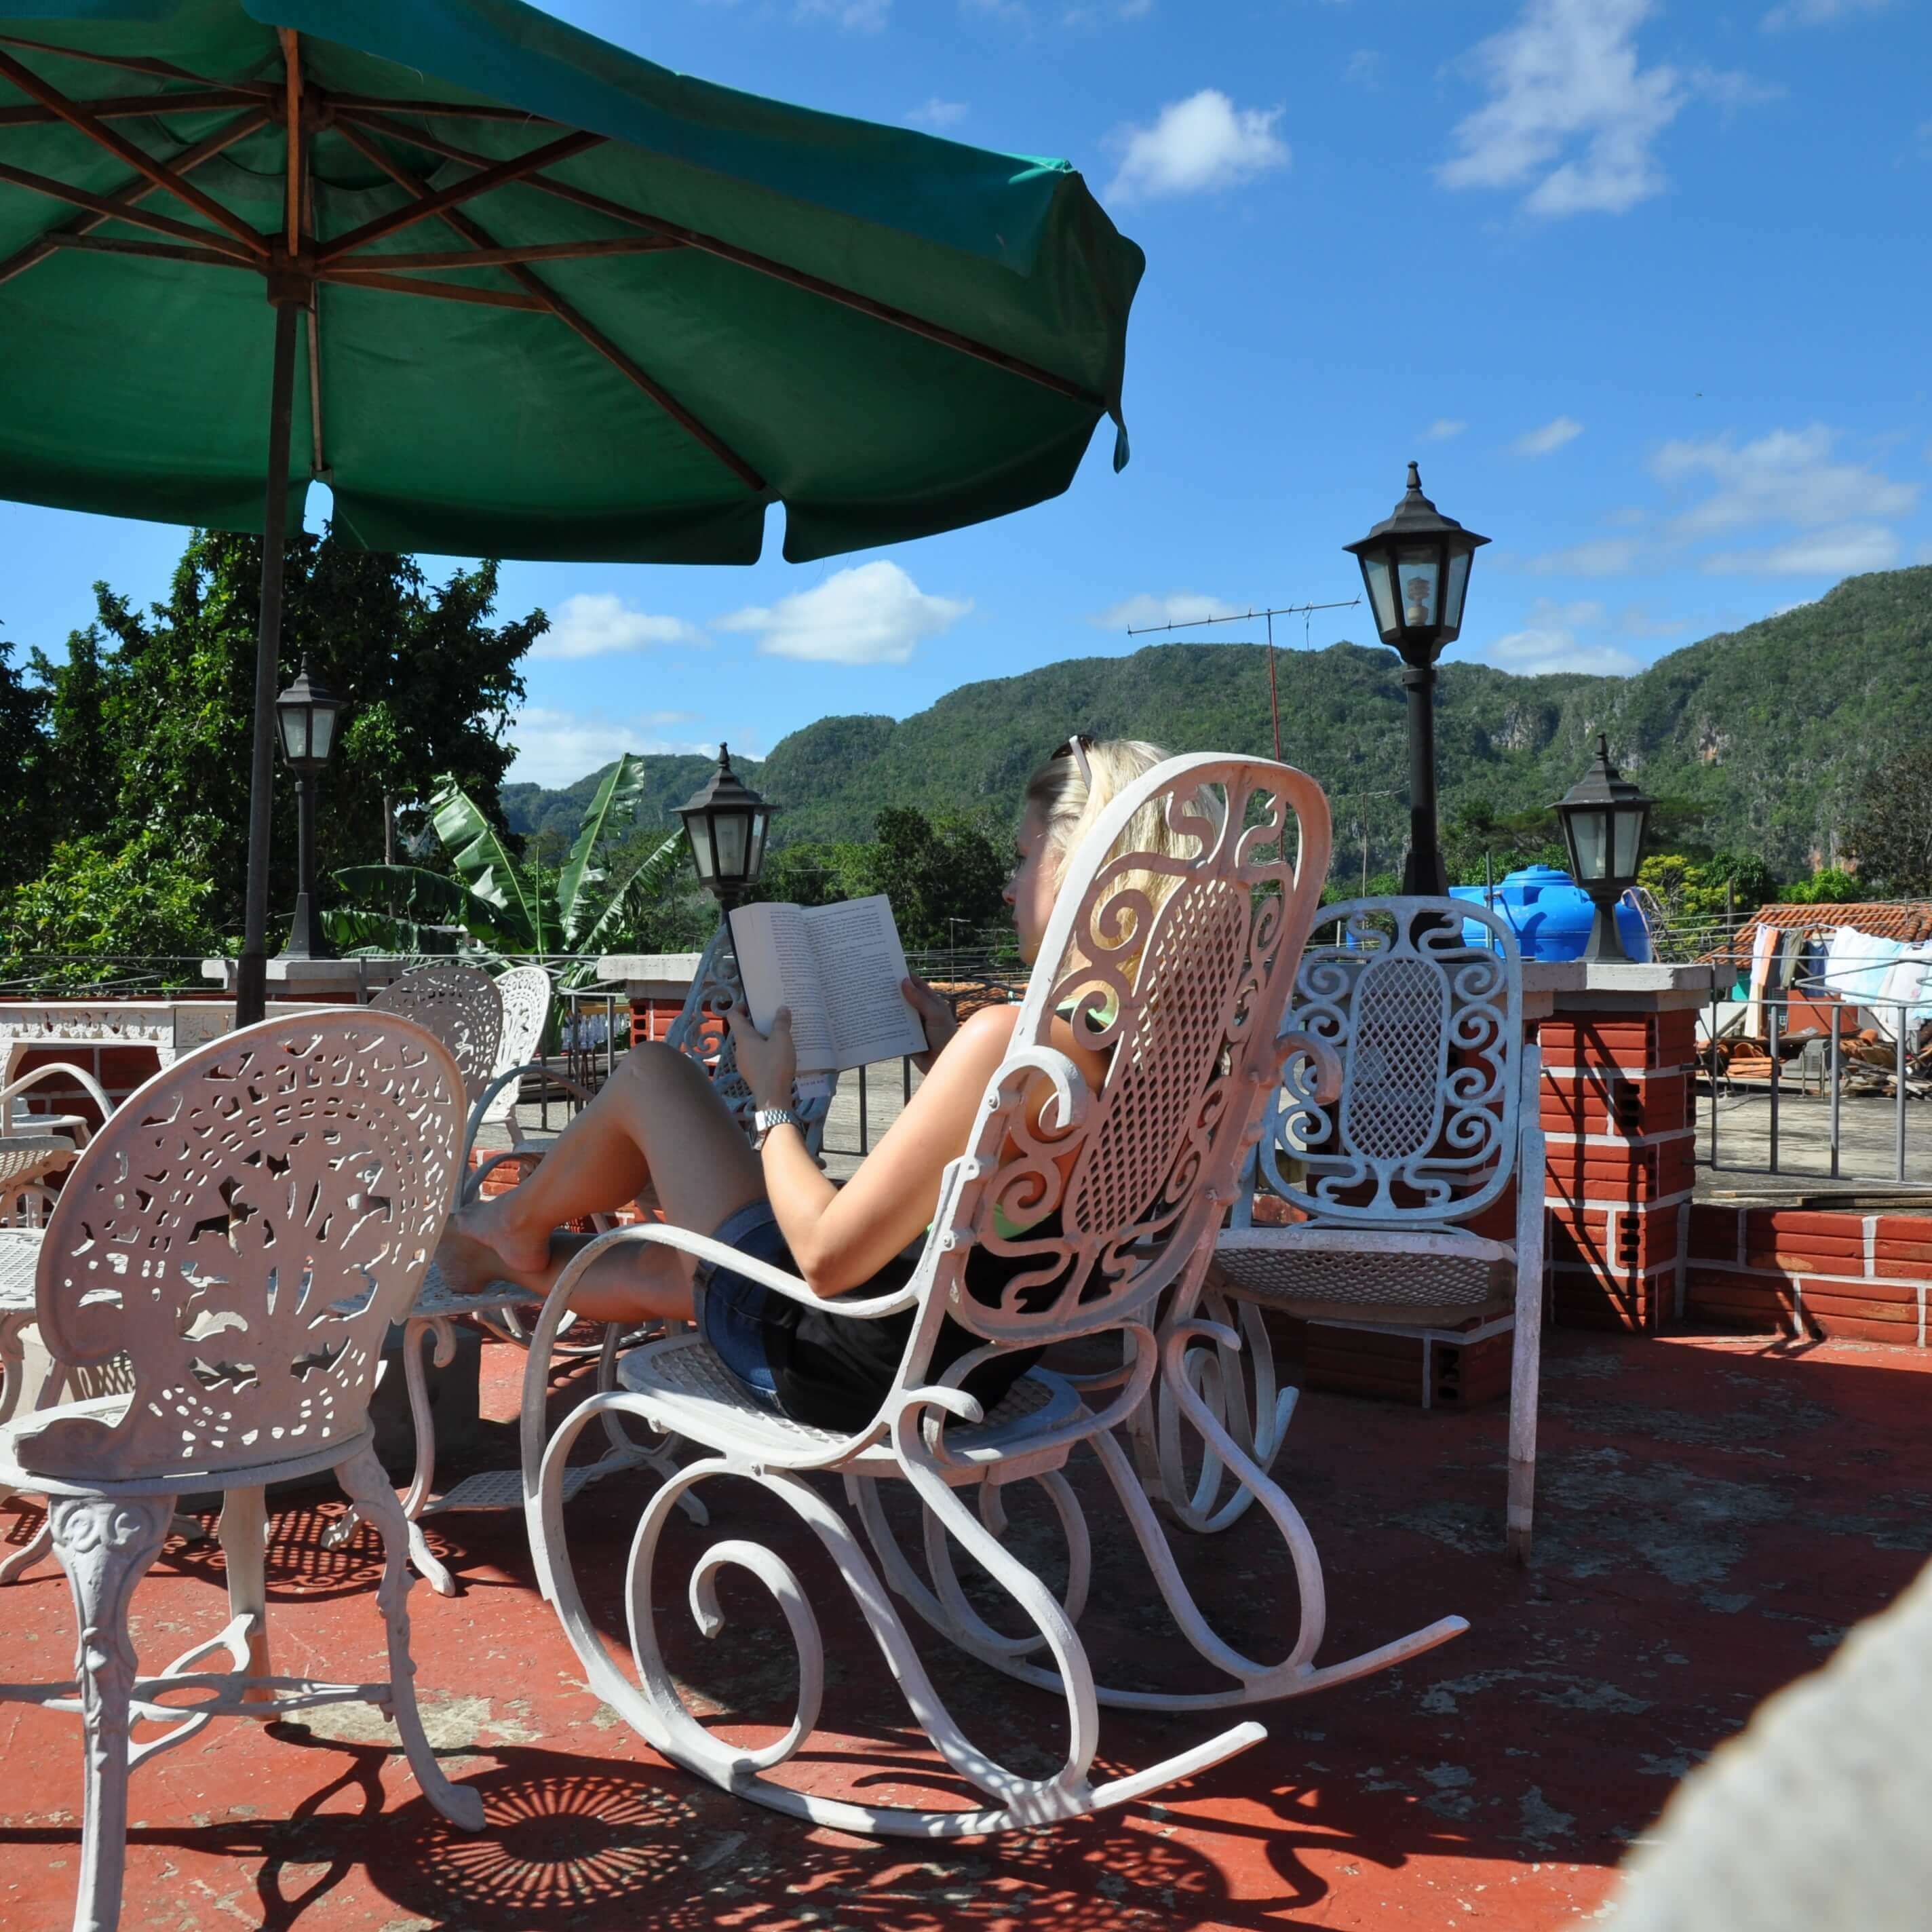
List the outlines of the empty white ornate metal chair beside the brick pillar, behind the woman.
{"type": "MultiPolygon", "coordinates": [[[[1424,1350],[1468,1347],[1515,1325],[1507,1548],[1524,1563],[1536,1492],[1544,1134],[1517,937],[1507,920],[1455,898],[1325,906],[1302,952],[1289,1024],[1335,1049],[1341,1092],[1323,1105],[1291,1076],[1275,1095],[1233,1225],[1215,1246],[1217,1287],[1242,1304],[1248,1374],[1233,1360],[1202,1358],[1196,1368],[1267,1468],[1296,1391],[1275,1389],[1258,1304],[1316,1323],[1374,1325],[1424,1350]],[[1486,937],[1472,939],[1470,925],[1486,937]],[[1470,1233],[1466,1223],[1497,1208],[1511,1184],[1513,1236],[1470,1233]],[[1256,1225],[1262,1196],[1306,1219],[1256,1225]]],[[[1213,1289],[1209,1308],[1233,1325],[1213,1289]]],[[[1161,1424],[1169,1509],[1192,1528],[1225,1528],[1248,1495],[1236,1488],[1219,1499],[1211,1457],[1190,1480],[1177,1430],[1167,1416],[1161,1424]]]]}

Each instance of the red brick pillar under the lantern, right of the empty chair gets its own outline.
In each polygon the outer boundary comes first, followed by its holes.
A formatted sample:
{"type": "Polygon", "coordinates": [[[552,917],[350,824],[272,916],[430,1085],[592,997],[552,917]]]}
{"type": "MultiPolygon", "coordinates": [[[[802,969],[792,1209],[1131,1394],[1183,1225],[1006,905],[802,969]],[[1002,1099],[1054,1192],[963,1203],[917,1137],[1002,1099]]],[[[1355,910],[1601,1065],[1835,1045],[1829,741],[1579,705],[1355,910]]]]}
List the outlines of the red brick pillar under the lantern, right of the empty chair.
{"type": "Polygon", "coordinates": [[[1551,1312],[1656,1333],[1683,1314],[1696,1010],[1634,993],[1613,1001],[1559,995],[1540,1032],[1551,1312]]]}

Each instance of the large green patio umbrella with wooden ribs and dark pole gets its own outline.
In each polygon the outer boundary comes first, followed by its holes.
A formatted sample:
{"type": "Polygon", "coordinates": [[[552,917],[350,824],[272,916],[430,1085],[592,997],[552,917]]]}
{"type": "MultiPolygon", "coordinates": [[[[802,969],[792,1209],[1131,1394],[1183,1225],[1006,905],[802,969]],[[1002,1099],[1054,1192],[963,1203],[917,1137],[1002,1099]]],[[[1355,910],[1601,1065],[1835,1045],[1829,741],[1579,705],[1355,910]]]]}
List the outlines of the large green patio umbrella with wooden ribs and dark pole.
{"type": "Polygon", "coordinates": [[[1121,423],[1140,270],[1066,162],[518,0],[0,14],[0,495],[267,539],[240,1018],[311,477],[384,551],[744,564],[773,502],[794,562],[954,529],[1121,423]]]}

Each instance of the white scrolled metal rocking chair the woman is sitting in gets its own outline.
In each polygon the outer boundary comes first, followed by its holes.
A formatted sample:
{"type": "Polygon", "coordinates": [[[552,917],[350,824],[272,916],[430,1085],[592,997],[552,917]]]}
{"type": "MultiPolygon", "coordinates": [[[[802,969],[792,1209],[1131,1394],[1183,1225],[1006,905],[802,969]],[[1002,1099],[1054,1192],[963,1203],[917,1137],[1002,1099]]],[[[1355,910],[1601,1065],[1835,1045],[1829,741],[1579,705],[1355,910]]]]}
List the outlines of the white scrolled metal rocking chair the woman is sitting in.
{"type": "MultiPolygon", "coordinates": [[[[1262,759],[1182,757],[1148,773],[1101,815],[1072,858],[1039,964],[1018,1012],[1012,1051],[987,1084],[976,1144],[947,1167],[931,1235],[910,1285],[898,1293],[817,1302],[804,1281],[676,1227],[620,1229],[593,1242],[558,1279],[537,1323],[535,1352],[570,1320],[570,1296],[597,1252],[618,1242],[661,1242],[723,1264],[771,1293],[852,1320],[914,1310],[914,1331],[877,1416],[842,1435],[806,1428],[753,1406],[699,1335],[649,1343],[620,1364],[622,1387],[582,1405],[545,1447],[545,1389],[526,1381],[524,1455],[531,1549],[545,1594],[591,1689],[674,1762],[775,1810],[846,1832],[949,1837],[1037,1828],[1144,1797],[1258,1743],[1262,1725],[1233,1729],[1134,1776],[1094,1783],[1099,1706],[1200,1712],[1294,1696],[1335,1685],[1455,1636],[1466,1625],[1443,1619],[1393,1644],[1318,1667],[1321,1567],[1287,1495],[1256,1468],[1194,1393],[1190,1345],[1225,1333],[1194,1318],[1213,1235],[1242,1161],[1260,1130],[1283,1047],[1277,1028],[1302,937],[1327,871],[1327,806],[1298,771],[1262,759]],[[1153,806],[1192,840],[1186,858],[1128,854],[1107,860],[1136,811],[1153,806]],[[1298,821],[1298,864],[1293,864],[1298,821]],[[1150,916],[1136,871],[1173,879],[1171,896],[1150,916]],[[1057,1009],[1076,1003],[1111,1047],[1109,1072],[1090,1092],[1078,1068],[1051,1045],[1057,1009]],[[1036,1130],[1028,1095],[1041,1082],[1057,1099],[1036,1130]],[[1045,1209],[1061,1233],[1001,1235],[999,1211],[1037,1225],[1045,1209]],[[976,1300],[964,1281],[978,1248],[1018,1258],[1022,1273],[1001,1306],[976,1300]],[[1037,1265],[1032,1265],[1037,1264],[1037,1265]],[[945,1320],[962,1323],[980,1347],[945,1376],[927,1362],[945,1320]],[[1155,1331],[1155,1321],[1159,1331],[1155,1331]],[[1088,1335],[1117,1335],[1124,1366],[1068,1378],[1032,1370],[983,1416],[960,1381],[1001,1352],[1088,1335]],[[1289,1542],[1300,1584],[1300,1617],[1287,1654],[1256,1662],[1206,1623],[1167,1548],[1159,1517],[1113,1430],[1148,1399],[1155,1378],[1219,1445],[1231,1468],[1258,1488],[1289,1542]],[[1090,1399],[1095,1406],[1090,1406],[1090,1399]],[[707,1453],[678,1470],[645,1507],[626,1578],[632,1654],[641,1687],[616,1667],[605,1636],[585,1615],[564,1536],[562,1480],[578,1434],[607,1414],[638,1416],[676,1432],[707,1453]],[[1159,1590],[1188,1644],[1223,1679],[1200,1692],[1150,1692],[1097,1685],[1076,1623],[1088,1586],[1088,1530],[1065,1466],[1074,1447],[1099,1461],[1159,1590]],[[858,1526],[808,1476],[840,1474],[858,1526]],[[864,1617],[914,1718],[980,1803],[960,1810],[862,1804],[777,1783],[817,1723],[823,1648],[817,1615],[790,1565],[746,1540],[715,1544],[690,1578],[692,1609],[705,1634],[723,1613],[721,1569],[748,1571],[773,1594],[798,1650],[798,1710],[775,1745],[726,1745],[697,1721],[665,1665],[659,1604],[674,1596],[659,1575],[659,1536],[670,1511],[713,1476],[759,1484],[796,1513],[833,1557],[852,1592],[844,1613],[864,1617]],[[1037,1482],[1068,1542],[1068,1582],[1057,1596],[1001,1540],[1009,1484],[1037,1482]],[[908,1484],[923,1505],[925,1575],[887,1524],[879,1486],[908,1484]],[[968,1507],[978,1503],[978,1513],[968,1507]],[[864,1538],[871,1542],[867,1555],[864,1538]],[[1032,1625],[1007,1636],[968,1602],[954,1573],[958,1546],[1032,1625]],[[883,1577],[881,1577],[883,1571],[883,1577]],[[933,1629],[1009,1675],[1066,1702],[1065,1762],[1034,1777],[993,1762],[968,1743],[943,1704],[906,1631],[895,1592],[933,1629]]],[[[1010,1225],[1010,1221],[1007,1223],[1010,1225]]],[[[1229,1337],[1233,1339],[1233,1337],[1229,1337]]]]}

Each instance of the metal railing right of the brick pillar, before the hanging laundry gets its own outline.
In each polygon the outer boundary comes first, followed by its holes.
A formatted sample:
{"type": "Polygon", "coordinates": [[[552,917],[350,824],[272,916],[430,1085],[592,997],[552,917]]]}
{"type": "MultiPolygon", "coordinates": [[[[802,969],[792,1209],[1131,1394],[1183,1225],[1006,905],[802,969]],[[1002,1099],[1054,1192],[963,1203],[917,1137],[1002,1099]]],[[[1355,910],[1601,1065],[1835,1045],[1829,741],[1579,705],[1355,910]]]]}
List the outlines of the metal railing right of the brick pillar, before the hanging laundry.
{"type": "MultiPolygon", "coordinates": [[[[1886,964],[1884,960],[1874,960],[1886,964]]],[[[1754,1090],[1756,1076],[1737,1068],[1735,1051],[1727,1053],[1725,1043],[1758,1045],[1758,1036],[1745,1034],[1741,1026],[1725,1026],[1723,1014],[1748,1010],[1750,1003],[1725,1001],[1712,987],[1708,1012],[1708,1037],[1704,1043],[1702,1074],[1710,1099],[1706,1165],[1721,1169],[1719,1115],[1756,1101],[1756,1092],[1747,1092],[1739,1099],[1741,1088],[1754,1090]],[[1725,1105],[1729,1101],[1729,1105],[1725,1105]]],[[[1801,1105],[1812,1099],[1812,1078],[1818,1082],[1816,1099],[1824,1105],[1824,1151],[1826,1177],[1832,1180],[1845,1175],[1845,1103],[1859,1103],[1866,1097],[1891,1101],[1891,1175],[1897,1184],[1909,1180],[1907,1161],[1907,1101],[1932,1099],[1932,991],[1922,999],[1888,999],[1884,995],[1841,997],[1839,989],[1828,985],[1820,976],[1793,980],[1787,987],[1766,989],[1756,1001],[1764,1014],[1762,1065],[1766,1113],[1766,1163],[1752,1165],[1750,1171],[1785,1171],[1785,1146],[1797,1138],[1816,1148],[1818,1119],[1806,1107],[1797,1117],[1789,1115],[1791,1101],[1801,1105]],[[1791,1007],[1803,1005],[1808,1012],[1822,1012],[1828,1020],[1824,1028],[1793,1032],[1791,1007]],[[1866,1024],[1847,1030],[1845,1020],[1864,1020],[1866,1024]],[[1874,1041],[1862,1036],[1878,1036],[1874,1041]],[[1793,1043],[1801,1043],[1797,1063],[1791,1065],[1785,1053],[1793,1043]],[[1795,1080],[1791,1078],[1795,1074],[1795,1080]]],[[[1756,1066],[1752,1057],[1747,1065],[1756,1066]]],[[[1861,1136],[1862,1138],[1862,1136],[1861,1136]]],[[[1862,1165],[1864,1153],[1853,1150],[1853,1157],[1862,1165]]],[[[1797,1169],[1812,1173],[1814,1169],[1797,1169]]],[[[1876,1173],[1853,1175],[1849,1179],[1886,1179],[1876,1173]]],[[[1932,1180],[1932,1175],[1926,1177],[1932,1180]]]]}

